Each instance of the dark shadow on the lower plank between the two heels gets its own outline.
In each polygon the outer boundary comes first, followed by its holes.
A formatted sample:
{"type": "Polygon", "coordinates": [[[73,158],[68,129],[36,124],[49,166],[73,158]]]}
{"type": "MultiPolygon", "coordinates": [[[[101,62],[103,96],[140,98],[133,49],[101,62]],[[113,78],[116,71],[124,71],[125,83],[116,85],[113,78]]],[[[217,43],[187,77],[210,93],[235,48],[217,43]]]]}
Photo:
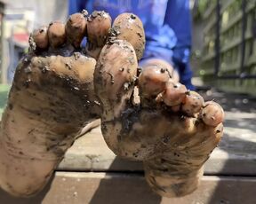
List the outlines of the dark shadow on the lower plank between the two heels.
{"type": "MultiPolygon", "coordinates": [[[[111,166],[119,165],[115,159],[111,166]]],[[[107,173],[100,180],[97,191],[93,194],[90,204],[158,204],[162,198],[149,188],[143,173],[123,172],[122,174],[107,173]]]]}

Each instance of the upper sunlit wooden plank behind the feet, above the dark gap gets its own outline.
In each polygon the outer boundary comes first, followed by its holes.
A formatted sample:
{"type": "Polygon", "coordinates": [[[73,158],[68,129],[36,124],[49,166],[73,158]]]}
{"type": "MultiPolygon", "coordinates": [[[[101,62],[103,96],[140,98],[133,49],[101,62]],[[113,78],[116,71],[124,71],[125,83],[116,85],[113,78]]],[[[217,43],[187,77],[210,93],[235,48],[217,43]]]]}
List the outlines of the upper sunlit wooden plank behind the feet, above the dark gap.
{"type": "MultiPolygon", "coordinates": [[[[224,137],[209,161],[205,175],[256,175],[256,114],[226,113],[224,137]]],[[[142,164],[116,157],[92,129],[76,140],[58,169],[85,171],[142,171],[142,164]]]]}

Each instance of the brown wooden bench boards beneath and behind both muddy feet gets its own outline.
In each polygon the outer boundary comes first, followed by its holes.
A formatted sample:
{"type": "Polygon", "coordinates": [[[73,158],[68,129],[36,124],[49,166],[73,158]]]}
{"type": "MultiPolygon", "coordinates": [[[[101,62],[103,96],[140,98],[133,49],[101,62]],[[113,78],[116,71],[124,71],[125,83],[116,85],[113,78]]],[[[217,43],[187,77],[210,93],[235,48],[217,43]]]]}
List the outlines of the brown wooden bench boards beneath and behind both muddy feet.
{"type": "Polygon", "coordinates": [[[205,164],[196,192],[177,199],[151,192],[140,162],[116,157],[92,129],[76,140],[43,192],[29,199],[0,192],[2,204],[256,203],[256,114],[226,114],[225,135],[205,164]]]}

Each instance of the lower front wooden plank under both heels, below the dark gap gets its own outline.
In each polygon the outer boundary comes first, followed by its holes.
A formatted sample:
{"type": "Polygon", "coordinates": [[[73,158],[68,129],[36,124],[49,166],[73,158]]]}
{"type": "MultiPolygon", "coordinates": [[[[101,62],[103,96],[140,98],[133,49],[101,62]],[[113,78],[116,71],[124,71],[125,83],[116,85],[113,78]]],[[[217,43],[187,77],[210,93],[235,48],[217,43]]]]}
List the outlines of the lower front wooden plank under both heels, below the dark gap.
{"type": "Polygon", "coordinates": [[[3,204],[252,204],[255,189],[256,177],[203,177],[196,192],[170,199],[151,192],[142,175],[57,172],[36,197],[18,199],[0,192],[0,200],[3,204]]]}

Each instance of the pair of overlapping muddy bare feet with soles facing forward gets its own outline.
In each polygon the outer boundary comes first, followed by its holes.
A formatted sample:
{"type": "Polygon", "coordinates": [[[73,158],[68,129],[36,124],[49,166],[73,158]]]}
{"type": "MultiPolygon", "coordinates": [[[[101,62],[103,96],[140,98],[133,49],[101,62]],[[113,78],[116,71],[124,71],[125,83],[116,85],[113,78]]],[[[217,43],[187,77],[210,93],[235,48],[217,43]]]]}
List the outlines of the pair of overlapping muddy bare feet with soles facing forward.
{"type": "Polygon", "coordinates": [[[6,192],[40,191],[97,118],[114,153],[144,162],[155,192],[175,197],[196,189],[222,136],[223,110],[175,82],[163,61],[148,60],[138,69],[145,35],[137,16],[121,14],[111,28],[108,13],[84,11],[66,25],[41,27],[29,43],[1,123],[0,186],[6,192]]]}

